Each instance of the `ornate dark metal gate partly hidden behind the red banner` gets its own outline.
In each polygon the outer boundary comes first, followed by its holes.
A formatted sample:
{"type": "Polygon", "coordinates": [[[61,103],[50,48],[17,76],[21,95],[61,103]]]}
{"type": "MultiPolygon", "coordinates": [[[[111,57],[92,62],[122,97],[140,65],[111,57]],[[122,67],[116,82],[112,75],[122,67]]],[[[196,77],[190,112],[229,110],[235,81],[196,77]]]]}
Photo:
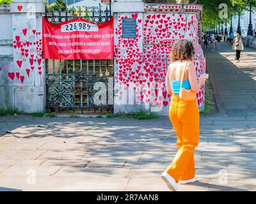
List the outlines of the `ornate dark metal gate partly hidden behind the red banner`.
{"type": "MultiPolygon", "coordinates": [[[[112,17],[111,8],[101,10],[100,7],[99,4],[99,10],[93,8],[91,12],[80,7],[66,8],[64,11],[46,8],[45,18],[51,23],[78,17],[96,23],[108,21],[112,17]]],[[[45,59],[47,111],[113,112],[113,64],[113,59],[45,59]],[[102,97],[106,97],[103,103],[102,97]]]]}

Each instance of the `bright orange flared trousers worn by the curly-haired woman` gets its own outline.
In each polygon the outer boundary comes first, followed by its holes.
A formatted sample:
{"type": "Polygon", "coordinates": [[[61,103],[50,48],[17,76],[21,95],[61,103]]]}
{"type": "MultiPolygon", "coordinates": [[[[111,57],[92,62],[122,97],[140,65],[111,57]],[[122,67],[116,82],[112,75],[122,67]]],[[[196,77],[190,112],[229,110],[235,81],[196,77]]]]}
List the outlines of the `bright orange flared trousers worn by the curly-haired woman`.
{"type": "Polygon", "coordinates": [[[200,117],[195,101],[184,101],[173,94],[169,118],[177,135],[177,154],[166,172],[179,182],[195,177],[194,150],[199,142],[200,117]]]}

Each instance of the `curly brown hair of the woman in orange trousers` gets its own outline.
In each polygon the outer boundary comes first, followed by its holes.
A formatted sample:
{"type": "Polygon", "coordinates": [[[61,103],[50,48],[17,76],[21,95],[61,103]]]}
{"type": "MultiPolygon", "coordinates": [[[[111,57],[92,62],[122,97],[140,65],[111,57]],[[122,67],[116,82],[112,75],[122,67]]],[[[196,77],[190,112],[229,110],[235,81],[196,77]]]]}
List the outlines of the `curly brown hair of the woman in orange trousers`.
{"type": "Polygon", "coordinates": [[[195,55],[193,43],[189,40],[177,40],[171,50],[171,62],[189,60],[195,55]]]}

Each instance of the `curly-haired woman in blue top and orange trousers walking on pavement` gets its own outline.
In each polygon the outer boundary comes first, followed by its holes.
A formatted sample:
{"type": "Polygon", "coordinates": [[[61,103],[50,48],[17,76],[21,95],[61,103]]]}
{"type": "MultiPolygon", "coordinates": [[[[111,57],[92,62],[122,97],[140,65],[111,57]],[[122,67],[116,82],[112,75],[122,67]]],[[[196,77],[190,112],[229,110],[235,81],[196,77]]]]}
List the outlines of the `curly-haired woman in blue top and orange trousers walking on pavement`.
{"type": "Polygon", "coordinates": [[[172,191],[177,191],[177,182],[195,182],[194,150],[199,142],[199,111],[196,92],[208,76],[197,80],[192,58],[193,44],[188,40],[176,41],[172,47],[172,63],[166,74],[166,88],[172,94],[169,118],[177,135],[177,154],[161,178],[172,191]]]}

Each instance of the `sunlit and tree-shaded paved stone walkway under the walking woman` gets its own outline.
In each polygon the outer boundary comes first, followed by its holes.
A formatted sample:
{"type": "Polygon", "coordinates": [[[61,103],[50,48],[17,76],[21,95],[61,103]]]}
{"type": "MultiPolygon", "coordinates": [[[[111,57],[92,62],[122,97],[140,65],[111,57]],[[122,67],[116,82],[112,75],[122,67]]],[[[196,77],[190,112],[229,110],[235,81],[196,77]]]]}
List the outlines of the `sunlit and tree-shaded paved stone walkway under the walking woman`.
{"type": "MultiPolygon", "coordinates": [[[[198,181],[179,191],[256,191],[255,51],[205,50],[218,113],[200,118],[198,181]]],[[[0,191],[169,191],[175,142],[168,117],[0,117],[0,191]]]]}

